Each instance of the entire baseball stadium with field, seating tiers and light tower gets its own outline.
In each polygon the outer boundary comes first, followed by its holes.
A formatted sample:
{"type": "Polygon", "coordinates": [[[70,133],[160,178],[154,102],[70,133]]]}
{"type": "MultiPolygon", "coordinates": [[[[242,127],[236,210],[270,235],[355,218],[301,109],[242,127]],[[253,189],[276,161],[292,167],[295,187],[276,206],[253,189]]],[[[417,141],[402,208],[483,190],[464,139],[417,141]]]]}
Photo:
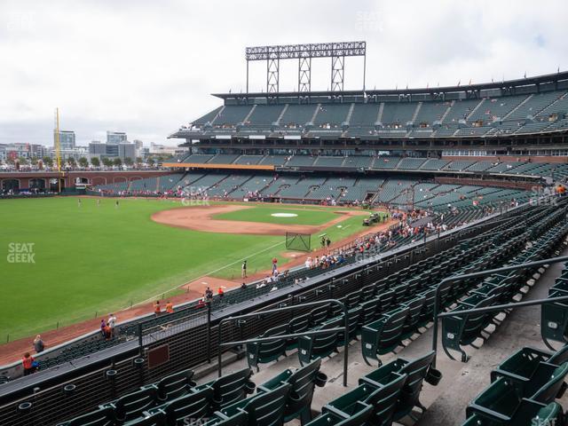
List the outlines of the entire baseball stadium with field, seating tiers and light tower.
{"type": "Polygon", "coordinates": [[[154,170],[0,171],[0,425],[568,424],[568,72],[344,90],[353,58],[246,48],[154,170]]]}

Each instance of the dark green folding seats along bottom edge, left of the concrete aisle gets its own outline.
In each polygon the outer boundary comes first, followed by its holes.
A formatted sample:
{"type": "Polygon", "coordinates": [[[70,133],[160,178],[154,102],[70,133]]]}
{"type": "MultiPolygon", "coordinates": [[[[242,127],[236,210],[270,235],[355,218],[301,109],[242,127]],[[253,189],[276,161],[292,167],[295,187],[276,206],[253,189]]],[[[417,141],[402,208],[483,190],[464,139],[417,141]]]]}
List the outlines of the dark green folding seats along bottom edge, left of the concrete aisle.
{"type": "Polygon", "coordinates": [[[248,368],[201,385],[193,382],[192,370],[184,370],[58,426],[279,426],[295,419],[306,426],[389,426],[412,414],[415,406],[424,409],[422,383],[439,382],[433,358],[431,351],[417,359],[395,359],[359,377],[359,386],[322,406],[313,420],[315,388],[327,383],[321,359],[258,385],[248,368]]]}

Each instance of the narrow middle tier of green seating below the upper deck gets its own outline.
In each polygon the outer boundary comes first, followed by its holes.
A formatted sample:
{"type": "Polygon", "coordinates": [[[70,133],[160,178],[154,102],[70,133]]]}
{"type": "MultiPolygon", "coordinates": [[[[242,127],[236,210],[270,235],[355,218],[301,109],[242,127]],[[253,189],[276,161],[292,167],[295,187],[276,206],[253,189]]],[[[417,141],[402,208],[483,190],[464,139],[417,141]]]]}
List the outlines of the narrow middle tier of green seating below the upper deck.
{"type": "Polygon", "coordinates": [[[326,156],[326,155],[238,155],[238,154],[189,154],[179,163],[190,164],[271,164],[278,167],[327,167],[333,169],[357,168],[366,170],[422,170],[453,172],[487,172],[493,174],[526,175],[534,177],[568,176],[568,164],[545,162],[477,162],[451,161],[434,158],[380,156],[326,156]],[[242,160],[241,157],[245,157],[242,160]],[[253,162],[249,158],[257,157],[253,162]]]}

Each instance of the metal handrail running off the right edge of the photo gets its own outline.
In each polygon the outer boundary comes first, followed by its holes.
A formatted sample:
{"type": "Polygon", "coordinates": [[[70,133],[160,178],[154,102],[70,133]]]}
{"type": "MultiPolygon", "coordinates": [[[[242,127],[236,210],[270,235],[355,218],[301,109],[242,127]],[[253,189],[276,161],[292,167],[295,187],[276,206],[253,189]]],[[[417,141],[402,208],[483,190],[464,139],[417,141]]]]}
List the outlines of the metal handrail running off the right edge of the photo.
{"type": "MultiPolygon", "coordinates": [[[[442,313],[439,312],[439,304],[440,304],[439,299],[440,299],[440,291],[442,288],[452,288],[452,286],[454,286],[454,284],[458,282],[469,280],[472,278],[484,278],[489,275],[493,275],[494,273],[517,271],[519,269],[533,268],[535,266],[542,266],[545,264],[557,264],[560,262],[568,262],[568,256],[552,257],[549,259],[538,260],[535,262],[527,262],[525,264],[513,264],[510,266],[503,266],[501,268],[488,269],[486,271],[466,273],[463,275],[455,275],[453,277],[447,277],[444,280],[441,280],[438,286],[436,287],[436,297],[434,298],[434,330],[432,333],[432,350],[438,351],[438,319],[452,315],[455,316],[458,314],[457,312],[442,312],[442,313]]],[[[555,301],[561,302],[563,300],[568,300],[568,296],[556,297],[554,299],[546,299],[546,301],[550,303],[553,303],[555,301]]],[[[518,302],[516,304],[502,304],[496,306],[489,306],[486,308],[477,308],[477,309],[470,309],[467,311],[460,311],[459,314],[461,315],[461,314],[475,313],[475,312],[491,312],[495,310],[501,311],[503,309],[539,304],[537,302],[539,301],[518,302]]],[[[544,303],[545,302],[541,302],[540,304],[544,303]]],[[[434,361],[432,362],[432,366],[434,367],[436,367],[436,357],[437,355],[434,356],[434,361]]]]}

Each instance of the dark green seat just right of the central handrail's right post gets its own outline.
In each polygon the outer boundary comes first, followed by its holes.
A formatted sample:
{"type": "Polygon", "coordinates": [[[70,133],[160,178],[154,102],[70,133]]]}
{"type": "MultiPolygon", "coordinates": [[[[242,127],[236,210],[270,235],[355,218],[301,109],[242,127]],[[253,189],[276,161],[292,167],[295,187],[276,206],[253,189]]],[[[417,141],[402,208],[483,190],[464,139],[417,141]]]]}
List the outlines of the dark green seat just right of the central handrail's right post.
{"type": "Polygon", "coordinates": [[[394,351],[398,347],[408,312],[410,309],[407,306],[401,306],[383,313],[379,319],[361,329],[363,359],[369,366],[369,359],[378,360],[381,364],[377,355],[394,351]]]}

